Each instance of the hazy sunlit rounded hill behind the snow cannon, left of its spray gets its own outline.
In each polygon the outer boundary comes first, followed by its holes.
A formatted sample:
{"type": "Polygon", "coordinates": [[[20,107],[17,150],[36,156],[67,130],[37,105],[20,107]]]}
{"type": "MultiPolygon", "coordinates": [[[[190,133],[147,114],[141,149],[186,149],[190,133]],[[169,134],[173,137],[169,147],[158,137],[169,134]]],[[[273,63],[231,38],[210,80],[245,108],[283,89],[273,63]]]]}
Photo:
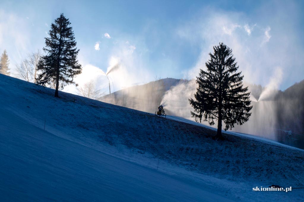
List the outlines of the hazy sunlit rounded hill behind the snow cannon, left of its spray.
{"type": "Polygon", "coordinates": [[[171,87],[188,80],[164,78],[151,81],[147,84],[136,85],[105,95],[99,101],[116,104],[119,106],[154,113],[164,97],[166,91],[171,87]]]}

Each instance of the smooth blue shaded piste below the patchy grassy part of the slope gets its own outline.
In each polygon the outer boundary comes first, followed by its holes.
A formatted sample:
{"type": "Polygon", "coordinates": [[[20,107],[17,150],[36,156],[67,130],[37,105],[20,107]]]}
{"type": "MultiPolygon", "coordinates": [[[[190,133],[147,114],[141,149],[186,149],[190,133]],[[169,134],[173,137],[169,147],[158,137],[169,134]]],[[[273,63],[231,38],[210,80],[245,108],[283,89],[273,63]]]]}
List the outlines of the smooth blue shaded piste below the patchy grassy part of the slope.
{"type": "Polygon", "coordinates": [[[230,201],[0,114],[1,201],[230,201]]]}

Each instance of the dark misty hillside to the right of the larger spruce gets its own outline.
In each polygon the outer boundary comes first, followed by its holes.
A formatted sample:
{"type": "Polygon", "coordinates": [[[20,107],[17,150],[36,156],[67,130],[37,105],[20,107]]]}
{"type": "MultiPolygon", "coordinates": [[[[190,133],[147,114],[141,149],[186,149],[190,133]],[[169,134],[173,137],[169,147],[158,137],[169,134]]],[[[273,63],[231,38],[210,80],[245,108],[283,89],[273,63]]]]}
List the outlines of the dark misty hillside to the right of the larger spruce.
{"type": "Polygon", "coordinates": [[[255,134],[265,134],[266,131],[270,131],[275,135],[275,140],[303,149],[304,80],[285,91],[273,91],[272,96],[258,102],[265,88],[255,84],[246,85],[249,86],[251,96],[256,100],[252,99],[253,109],[248,123],[244,126],[236,126],[236,131],[246,133],[248,127],[254,127],[257,131],[255,134]]]}

